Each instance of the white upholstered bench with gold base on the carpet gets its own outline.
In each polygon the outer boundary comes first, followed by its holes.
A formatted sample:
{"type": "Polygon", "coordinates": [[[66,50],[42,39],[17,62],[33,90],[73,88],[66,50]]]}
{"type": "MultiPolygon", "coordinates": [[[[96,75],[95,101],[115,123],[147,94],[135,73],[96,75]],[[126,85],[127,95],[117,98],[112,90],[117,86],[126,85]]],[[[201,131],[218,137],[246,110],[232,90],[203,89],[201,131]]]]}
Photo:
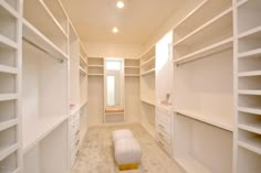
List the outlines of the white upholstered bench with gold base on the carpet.
{"type": "Polygon", "coordinates": [[[138,169],[142,161],[142,149],[132,131],[113,132],[115,161],[119,171],[138,169]]]}

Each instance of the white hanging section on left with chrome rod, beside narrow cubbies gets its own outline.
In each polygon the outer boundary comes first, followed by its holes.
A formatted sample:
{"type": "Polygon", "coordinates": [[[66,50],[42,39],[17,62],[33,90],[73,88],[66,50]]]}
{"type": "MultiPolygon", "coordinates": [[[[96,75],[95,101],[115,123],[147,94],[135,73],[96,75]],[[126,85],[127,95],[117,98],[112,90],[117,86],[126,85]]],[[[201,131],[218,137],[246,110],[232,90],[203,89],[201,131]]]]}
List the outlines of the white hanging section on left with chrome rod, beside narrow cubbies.
{"type": "Polygon", "coordinates": [[[70,169],[67,25],[60,1],[23,1],[22,153],[27,173],[70,169]]]}

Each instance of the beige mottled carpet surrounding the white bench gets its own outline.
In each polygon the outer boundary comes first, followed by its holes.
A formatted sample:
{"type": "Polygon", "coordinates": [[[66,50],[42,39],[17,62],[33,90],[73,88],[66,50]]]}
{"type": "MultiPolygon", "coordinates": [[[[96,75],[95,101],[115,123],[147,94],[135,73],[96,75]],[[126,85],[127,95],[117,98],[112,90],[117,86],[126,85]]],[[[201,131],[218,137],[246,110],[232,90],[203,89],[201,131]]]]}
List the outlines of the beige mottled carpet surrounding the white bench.
{"type": "Polygon", "coordinates": [[[140,125],[91,128],[72,173],[178,173],[177,164],[157,145],[140,125]],[[113,156],[112,131],[130,129],[143,150],[138,170],[118,171],[113,156]]]}

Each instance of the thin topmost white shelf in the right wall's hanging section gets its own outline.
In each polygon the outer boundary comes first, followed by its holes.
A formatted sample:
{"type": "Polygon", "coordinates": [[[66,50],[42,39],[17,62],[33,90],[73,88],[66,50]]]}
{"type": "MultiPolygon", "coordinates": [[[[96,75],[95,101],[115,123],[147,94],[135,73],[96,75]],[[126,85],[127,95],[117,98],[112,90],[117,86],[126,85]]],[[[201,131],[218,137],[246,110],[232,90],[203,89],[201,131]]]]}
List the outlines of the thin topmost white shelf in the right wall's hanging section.
{"type": "MultiPolygon", "coordinates": [[[[219,20],[223,19],[226,15],[232,13],[232,8],[229,8],[228,10],[221,12],[220,14],[218,14],[217,17],[212,18],[210,21],[206,22],[203,25],[199,26],[198,29],[194,30],[191,33],[187,34],[186,36],[184,36],[182,39],[180,39],[178,42],[176,42],[174,44],[174,47],[176,47],[179,44],[182,44],[184,42],[186,42],[187,40],[189,40],[190,37],[192,37],[194,35],[198,34],[199,32],[203,32],[205,29],[207,29],[208,26],[212,26],[213,29],[216,29],[215,24],[219,24],[219,20]]],[[[217,28],[218,29],[218,28],[217,28]]],[[[201,35],[205,36],[205,35],[201,35]]]]}

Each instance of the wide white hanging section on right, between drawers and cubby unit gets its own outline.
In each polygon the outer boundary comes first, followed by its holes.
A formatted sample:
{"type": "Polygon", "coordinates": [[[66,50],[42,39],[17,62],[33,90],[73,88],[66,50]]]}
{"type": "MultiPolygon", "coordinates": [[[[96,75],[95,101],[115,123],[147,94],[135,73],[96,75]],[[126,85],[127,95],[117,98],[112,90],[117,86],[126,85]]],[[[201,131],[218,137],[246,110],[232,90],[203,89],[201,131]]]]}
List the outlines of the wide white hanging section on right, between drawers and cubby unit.
{"type": "Polygon", "coordinates": [[[174,159],[188,173],[232,172],[232,0],[205,0],[173,31],[174,159]]]}

